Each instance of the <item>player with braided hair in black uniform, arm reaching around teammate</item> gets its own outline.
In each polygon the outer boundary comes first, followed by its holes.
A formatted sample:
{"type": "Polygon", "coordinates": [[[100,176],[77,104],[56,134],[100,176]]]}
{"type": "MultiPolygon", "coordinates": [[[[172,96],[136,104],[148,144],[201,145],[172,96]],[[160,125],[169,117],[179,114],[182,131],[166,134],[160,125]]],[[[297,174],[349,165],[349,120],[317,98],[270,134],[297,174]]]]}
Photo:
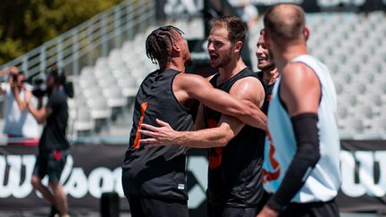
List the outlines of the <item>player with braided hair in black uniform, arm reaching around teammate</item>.
{"type": "Polygon", "coordinates": [[[190,62],[187,41],[172,26],[155,29],[146,42],[147,56],[160,69],[150,73],[136,96],[130,147],[122,166],[122,186],[130,203],[131,216],[188,216],[185,179],[186,148],[144,148],[139,129],[155,119],[171,123],[173,129],[193,129],[191,99],[198,99],[240,121],[266,128],[266,117],[248,100],[243,102],[215,89],[203,77],[182,73],[190,62]]]}

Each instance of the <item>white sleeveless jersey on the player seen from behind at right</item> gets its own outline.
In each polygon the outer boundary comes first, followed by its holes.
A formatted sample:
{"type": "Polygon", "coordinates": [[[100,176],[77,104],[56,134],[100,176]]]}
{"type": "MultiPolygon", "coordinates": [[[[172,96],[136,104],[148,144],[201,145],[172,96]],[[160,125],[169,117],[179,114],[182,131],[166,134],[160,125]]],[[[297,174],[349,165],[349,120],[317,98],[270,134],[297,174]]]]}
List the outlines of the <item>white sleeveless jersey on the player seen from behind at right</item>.
{"type": "MultiPolygon", "coordinates": [[[[325,202],[334,198],[340,188],[340,138],[336,124],[336,94],[327,67],[311,55],[300,55],[291,61],[305,63],[318,76],[322,87],[317,127],[321,158],[306,179],[305,185],[291,202],[325,202]]],[[[268,109],[268,129],[264,149],[264,189],[274,193],[281,185],[297,150],[296,138],[290,114],[282,106],[279,97],[281,79],[273,87],[268,109]]]]}

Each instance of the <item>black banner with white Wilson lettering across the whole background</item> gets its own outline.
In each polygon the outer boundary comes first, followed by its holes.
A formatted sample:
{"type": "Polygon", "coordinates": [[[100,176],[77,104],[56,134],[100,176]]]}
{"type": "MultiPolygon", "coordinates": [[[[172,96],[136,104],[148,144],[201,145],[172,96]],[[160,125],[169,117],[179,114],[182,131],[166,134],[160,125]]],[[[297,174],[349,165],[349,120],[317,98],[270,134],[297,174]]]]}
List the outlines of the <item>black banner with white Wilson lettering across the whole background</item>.
{"type": "MultiPolygon", "coordinates": [[[[373,211],[386,207],[386,141],[343,140],[340,152],[342,186],[340,210],[373,211]]],[[[61,182],[70,207],[99,209],[103,192],[117,192],[121,209],[129,209],[122,192],[124,145],[75,145],[67,158],[61,182]]],[[[30,184],[36,146],[0,146],[0,209],[46,206],[30,184]]],[[[189,212],[205,216],[207,157],[191,149],[187,160],[189,212]]],[[[47,179],[44,179],[47,183],[47,179]]]]}

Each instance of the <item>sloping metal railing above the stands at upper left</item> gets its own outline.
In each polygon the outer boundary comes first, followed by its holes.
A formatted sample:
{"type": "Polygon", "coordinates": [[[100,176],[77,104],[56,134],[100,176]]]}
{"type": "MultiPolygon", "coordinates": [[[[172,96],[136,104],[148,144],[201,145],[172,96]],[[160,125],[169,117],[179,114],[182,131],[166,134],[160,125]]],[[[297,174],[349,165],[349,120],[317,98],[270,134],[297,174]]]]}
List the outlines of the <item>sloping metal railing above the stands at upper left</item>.
{"type": "Polygon", "coordinates": [[[94,64],[97,57],[106,56],[154,24],[154,0],[126,0],[5,63],[0,69],[15,65],[28,76],[56,65],[76,75],[83,66],[94,64]]]}

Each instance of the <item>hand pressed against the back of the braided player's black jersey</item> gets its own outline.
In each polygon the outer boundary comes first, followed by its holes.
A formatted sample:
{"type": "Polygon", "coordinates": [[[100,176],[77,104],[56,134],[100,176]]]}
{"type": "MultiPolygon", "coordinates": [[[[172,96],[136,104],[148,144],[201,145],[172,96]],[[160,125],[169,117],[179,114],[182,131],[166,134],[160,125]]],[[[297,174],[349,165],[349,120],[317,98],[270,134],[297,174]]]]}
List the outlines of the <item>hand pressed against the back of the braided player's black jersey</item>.
{"type": "Polygon", "coordinates": [[[160,127],[143,123],[141,129],[138,129],[142,135],[151,137],[139,139],[139,143],[146,144],[145,147],[172,145],[173,140],[178,136],[178,131],[172,129],[167,122],[158,119],[155,121],[160,127]]]}

